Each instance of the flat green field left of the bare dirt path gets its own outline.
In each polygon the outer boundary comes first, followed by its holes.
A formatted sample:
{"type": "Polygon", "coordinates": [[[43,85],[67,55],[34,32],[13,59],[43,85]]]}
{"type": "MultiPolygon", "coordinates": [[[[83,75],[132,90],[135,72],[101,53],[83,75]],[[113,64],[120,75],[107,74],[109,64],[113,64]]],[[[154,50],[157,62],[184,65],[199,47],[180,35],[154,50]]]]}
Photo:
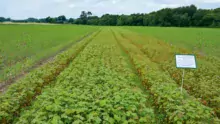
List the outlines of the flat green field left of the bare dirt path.
{"type": "Polygon", "coordinates": [[[0,82],[96,29],[73,25],[0,25],[0,82]]]}

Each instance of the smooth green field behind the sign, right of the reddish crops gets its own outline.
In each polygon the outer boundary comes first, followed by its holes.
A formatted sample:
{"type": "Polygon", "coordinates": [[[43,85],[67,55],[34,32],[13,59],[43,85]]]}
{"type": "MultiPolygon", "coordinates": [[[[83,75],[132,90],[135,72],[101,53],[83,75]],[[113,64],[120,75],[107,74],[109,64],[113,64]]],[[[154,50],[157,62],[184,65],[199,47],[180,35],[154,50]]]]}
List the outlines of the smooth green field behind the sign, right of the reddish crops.
{"type": "Polygon", "coordinates": [[[125,29],[196,50],[202,54],[220,57],[220,29],[218,28],[125,27],[125,29]]]}

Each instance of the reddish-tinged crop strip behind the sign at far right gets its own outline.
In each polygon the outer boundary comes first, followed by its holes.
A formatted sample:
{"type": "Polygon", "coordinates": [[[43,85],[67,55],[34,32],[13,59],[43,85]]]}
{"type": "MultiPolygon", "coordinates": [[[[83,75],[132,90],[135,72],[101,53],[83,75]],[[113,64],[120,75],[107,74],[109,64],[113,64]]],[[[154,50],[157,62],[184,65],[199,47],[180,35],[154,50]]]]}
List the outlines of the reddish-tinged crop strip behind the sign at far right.
{"type": "MultiPolygon", "coordinates": [[[[122,36],[132,38],[131,35],[122,34],[122,36]]],[[[139,40],[144,40],[144,42],[140,43],[135,39],[130,40],[130,42],[139,47],[151,61],[158,63],[162,70],[168,72],[180,86],[182,70],[176,68],[174,55],[179,53],[190,54],[190,52],[149,38],[139,40]]],[[[214,108],[214,112],[220,117],[220,60],[216,57],[195,54],[198,68],[185,69],[184,88],[190,95],[199,98],[204,105],[214,108]]]]}

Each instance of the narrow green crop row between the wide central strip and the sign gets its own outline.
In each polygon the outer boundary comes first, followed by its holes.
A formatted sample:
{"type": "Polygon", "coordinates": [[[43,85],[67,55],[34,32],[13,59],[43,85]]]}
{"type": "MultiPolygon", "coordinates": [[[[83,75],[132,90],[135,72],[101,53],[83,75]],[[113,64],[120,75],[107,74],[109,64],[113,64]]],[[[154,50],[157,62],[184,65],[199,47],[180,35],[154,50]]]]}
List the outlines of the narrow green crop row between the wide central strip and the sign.
{"type": "Polygon", "coordinates": [[[143,85],[151,92],[157,111],[165,113],[167,123],[213,123],[215,118],[211,108],[196,101],[185,90],[181,94],[169,74],[161,71],[137,46],[123,38],[120,33],[115,33],[115,37],[130,56],[143,85]]]}

